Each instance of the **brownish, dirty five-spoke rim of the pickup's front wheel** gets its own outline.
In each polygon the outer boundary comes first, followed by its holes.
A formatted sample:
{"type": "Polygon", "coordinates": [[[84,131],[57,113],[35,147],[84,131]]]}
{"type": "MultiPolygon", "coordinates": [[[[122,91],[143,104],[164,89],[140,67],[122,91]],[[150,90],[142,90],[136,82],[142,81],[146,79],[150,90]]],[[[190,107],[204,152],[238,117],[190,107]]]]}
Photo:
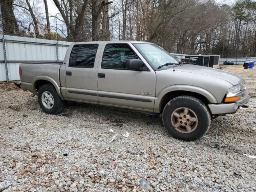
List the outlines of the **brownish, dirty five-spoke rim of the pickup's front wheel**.
{"type": "Polygon", "coordinates": [[[196,113],[190,108],[180,107],[174,110],[170,116],[172,126],[181,133],[191,133],[198,126],[196,113]]]}

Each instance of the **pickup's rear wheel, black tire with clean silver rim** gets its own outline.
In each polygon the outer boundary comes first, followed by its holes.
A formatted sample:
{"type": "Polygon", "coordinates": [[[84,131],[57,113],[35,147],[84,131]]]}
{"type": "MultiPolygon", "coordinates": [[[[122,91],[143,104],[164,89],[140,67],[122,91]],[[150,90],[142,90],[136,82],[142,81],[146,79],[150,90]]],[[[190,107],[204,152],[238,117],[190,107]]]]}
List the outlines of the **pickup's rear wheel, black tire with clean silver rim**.
{"type": "Polygon", "coordinates": [[[56,114],[64,109],[64,101],[51,84],[44,84],[39,88],[38,103],[42,110],[49,114],[56,114]]]}

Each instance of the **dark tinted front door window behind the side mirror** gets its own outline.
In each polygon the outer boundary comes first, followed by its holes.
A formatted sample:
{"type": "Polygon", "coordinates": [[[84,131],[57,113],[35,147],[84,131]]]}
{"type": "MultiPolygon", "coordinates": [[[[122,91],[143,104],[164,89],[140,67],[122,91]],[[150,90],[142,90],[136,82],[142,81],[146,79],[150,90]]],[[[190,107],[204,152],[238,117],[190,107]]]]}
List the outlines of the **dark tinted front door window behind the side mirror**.
{"type": "Polygon", "coordinates": [[[128,44],[107,44],[102,57],[101,68],[127,69],[130,59],[139,59],[128,44]]]}

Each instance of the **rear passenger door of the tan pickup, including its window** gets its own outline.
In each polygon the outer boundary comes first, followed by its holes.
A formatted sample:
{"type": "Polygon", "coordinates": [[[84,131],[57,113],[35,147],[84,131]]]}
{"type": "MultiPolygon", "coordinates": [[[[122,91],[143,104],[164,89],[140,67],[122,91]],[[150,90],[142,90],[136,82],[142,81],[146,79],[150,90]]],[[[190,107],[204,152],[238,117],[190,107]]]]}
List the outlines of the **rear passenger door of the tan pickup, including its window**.
{"type": "Polygon", "coordinates": [[[66,63],[66,96],[70,100],[98,102],[99,44],[75,44],[66,63]]]}

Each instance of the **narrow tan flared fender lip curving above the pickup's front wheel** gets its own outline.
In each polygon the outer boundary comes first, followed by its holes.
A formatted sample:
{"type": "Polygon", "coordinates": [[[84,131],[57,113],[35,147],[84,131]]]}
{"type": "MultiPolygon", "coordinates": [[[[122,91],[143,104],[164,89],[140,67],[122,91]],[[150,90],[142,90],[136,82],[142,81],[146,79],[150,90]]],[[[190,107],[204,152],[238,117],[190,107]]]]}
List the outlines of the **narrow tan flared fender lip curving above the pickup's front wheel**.
{"type": "Polygon", "coordinates": [[[168,86],[168,87],[162,89],[159,92],[159,94],[156,96],[154,112],[156,112],[156,113],[160,112],[160,103],[161,103],[162,98],[164,97],[165,94],[172,92],[172,91],[189,91],[189,92],[198,93],[198,94],[205,96],[210,101],[210,103],[218,103],[218,101],[214,97],[214,95],[203,88],[200,88],[197,86],[191,86],[191,85],[172,85],[172,86],[168,86]]]}

